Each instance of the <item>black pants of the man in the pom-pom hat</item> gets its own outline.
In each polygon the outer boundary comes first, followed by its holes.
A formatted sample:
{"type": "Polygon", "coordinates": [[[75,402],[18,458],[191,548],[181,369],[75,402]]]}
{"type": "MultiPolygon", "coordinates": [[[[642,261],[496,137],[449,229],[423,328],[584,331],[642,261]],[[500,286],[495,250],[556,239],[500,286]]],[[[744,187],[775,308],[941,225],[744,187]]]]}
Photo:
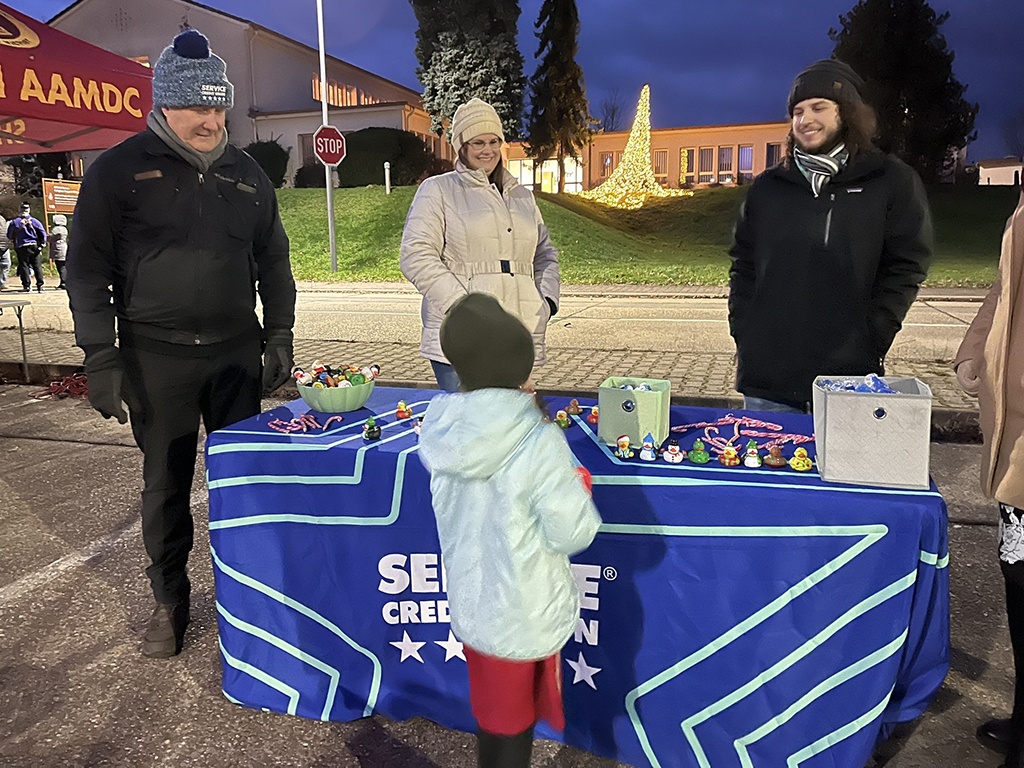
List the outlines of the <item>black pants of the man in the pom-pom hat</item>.
{"type": "Polygon", "coordinates": [[[213,357],[183,357],[122,342],[131,388],[131,428],[143,454],[142,540],[145,569],[160,603],[188,597],[193,548],[188,507],[200,419],[212,432],[260,411],[261,357],[257,336],[213,357]]]}

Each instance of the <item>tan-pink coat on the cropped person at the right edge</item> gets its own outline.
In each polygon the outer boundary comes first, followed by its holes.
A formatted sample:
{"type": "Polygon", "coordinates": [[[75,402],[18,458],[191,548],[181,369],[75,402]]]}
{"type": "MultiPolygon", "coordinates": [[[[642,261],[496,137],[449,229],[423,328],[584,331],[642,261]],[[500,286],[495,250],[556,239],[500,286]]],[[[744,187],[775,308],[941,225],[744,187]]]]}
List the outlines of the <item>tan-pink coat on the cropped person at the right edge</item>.
{"type": "Polygon", "coordinates": [[[1002,236],[999,276],[953,360],[980,379],[981,489],[1024,509],[1024,195],[1002,236]]]}

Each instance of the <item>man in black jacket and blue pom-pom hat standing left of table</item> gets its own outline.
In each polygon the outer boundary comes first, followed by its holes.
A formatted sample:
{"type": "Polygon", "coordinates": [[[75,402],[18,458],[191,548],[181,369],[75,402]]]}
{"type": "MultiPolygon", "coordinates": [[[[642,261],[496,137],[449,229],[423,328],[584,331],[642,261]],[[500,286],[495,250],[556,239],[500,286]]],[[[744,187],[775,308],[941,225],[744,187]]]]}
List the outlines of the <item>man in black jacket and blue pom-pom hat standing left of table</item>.
{"type": "Polygon", "coordinates": [[[142,539],[157,605],[142,653],[160,658],[180,652],[189,621],[200,420],[212,432],[255,416],[261,390],[280,387],[292,368],[288,238],[269,179],[227,143],[234,90],[225,69],[196,30],[164,49],[148,128],[89,168],[68,253],[89,402],[106,419],[130,419],[143,454],[142,539]]]}

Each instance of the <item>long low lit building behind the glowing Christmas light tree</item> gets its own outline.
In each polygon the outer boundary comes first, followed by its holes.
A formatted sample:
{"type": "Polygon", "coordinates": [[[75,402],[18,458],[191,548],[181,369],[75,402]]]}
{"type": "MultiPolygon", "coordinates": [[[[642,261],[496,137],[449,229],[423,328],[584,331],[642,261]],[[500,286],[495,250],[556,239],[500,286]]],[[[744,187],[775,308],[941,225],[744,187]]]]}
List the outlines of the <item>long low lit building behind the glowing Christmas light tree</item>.
{"type": "MultiPolygon", "coordinates": [[[[674,188],[750,181],[782,159],[788,131],[787,121],[651,129],[654,177],[674,188]]],[[[593,189],[610,176],[629,137],[629,131],[598,133],[581,157],[566,159],[565,190],[593,189]]],[[[522,143],[509,144],[508,167],[520,183],[534,185],[534,166],[522,143]]],[[[554,191],[558,163],[544,161],[537,169],[537,181],[543,191],[554,191]]]]}

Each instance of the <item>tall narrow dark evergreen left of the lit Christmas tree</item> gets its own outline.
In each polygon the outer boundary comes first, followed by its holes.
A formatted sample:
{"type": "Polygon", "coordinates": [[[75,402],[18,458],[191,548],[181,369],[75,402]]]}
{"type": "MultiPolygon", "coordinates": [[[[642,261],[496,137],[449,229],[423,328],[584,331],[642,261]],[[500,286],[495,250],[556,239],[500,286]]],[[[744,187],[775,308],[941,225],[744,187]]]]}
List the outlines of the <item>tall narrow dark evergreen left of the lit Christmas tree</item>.
{"type": "Polygon", "coordinates": [[[558,193],[565,189],[565,158],[574,157],[590,139],[594,120],[577,63],[580,14],[575,0],[544,0],[537,19],[540,63],[529,79],[527,153],[558,160],[558,193]]]}

